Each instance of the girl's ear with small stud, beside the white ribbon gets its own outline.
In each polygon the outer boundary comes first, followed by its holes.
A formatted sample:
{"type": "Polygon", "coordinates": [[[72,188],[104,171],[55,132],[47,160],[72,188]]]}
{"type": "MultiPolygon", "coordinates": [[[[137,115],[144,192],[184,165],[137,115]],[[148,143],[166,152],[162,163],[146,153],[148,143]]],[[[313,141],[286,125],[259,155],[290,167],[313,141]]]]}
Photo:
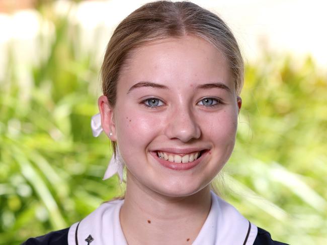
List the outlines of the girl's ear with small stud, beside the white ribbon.
{"type": "Polygon", "coordinates": [[[98,106],[101,114],[101,125],[103,131],[112,141],[117,141],[114,108],[109,104],[108,98],[101,95],[98,99],[98,106]],[[110,133],[112,134],[111,136],[110,133]]]}

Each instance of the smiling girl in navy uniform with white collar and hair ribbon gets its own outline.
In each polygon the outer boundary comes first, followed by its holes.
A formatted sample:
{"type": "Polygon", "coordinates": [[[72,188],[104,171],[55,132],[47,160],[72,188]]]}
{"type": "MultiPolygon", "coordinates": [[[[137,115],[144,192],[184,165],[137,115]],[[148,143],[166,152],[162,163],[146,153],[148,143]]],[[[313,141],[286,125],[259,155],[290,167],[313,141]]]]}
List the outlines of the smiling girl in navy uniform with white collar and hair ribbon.
{"type": "Polygon", "coordinates": [[[210,189],[230,157],[243,60],[215,14],[190,2],[144,5],[115,30],[100,114],[126,193],[67,229],[25,244],[282,244],[210,189]]]}

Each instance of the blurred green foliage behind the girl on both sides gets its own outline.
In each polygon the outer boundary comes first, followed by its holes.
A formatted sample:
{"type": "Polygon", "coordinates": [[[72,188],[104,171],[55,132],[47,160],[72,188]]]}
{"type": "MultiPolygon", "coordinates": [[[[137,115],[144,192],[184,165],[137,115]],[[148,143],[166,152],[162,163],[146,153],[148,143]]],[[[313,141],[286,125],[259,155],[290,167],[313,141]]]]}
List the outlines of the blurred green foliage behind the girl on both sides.
{"type": "MultiPolygon", "coordinates": [[[[112,152],[90,130],[108,26],[91,31],[32,2],[32,19],[15,18],[32,20],[35,37],[1,49],[0,244],[68,227],[123,192],[117,177],[101,180],[112,152]]],[[[217,185],[274,239],[327,244],[326,73],[309,56],[261,53],[246,66],[237,144],[217,185]]]]}

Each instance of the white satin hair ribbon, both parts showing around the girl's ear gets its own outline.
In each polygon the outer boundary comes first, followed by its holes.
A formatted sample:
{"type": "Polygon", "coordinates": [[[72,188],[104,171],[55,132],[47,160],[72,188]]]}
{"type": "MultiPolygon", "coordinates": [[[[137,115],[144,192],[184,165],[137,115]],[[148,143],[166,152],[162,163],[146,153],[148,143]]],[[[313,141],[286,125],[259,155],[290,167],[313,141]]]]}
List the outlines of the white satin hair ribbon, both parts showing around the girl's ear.
{"type": "MultiPolygon", "coordinates": [[[[103,131],[102,126],[101,126],[100,113],[92,116],[91,129],[92,129],[92,134],[94,137],[98,137],[101,134],[101,132],[103,131]]],[[[105,172],[105,176],[103,177],[103,180],[109,179],[113,175],[118,174],[118,176],[120,178],[120,183],[123,182],[123,169],[124,169],[124,164],[120,157],[119,149],[117,148],[116,157],[114,155],[112,155],[109,165],[107,167],[107,170],[105,172]]]]}

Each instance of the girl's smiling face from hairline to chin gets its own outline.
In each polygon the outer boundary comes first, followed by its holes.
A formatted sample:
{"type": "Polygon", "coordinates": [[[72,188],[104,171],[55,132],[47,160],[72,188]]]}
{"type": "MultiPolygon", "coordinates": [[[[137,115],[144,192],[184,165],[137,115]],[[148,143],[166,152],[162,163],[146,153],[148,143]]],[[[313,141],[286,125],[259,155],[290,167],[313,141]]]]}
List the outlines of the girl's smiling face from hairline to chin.
{"type": "Polygon", "coordinates": [[[212,181],[235,143],[241,100],[226,58],[204,39],[186,36],[132,51],[117,102],[99,99],[127,166],[127,185],[165,196],[194,194],[212,181]]]}

